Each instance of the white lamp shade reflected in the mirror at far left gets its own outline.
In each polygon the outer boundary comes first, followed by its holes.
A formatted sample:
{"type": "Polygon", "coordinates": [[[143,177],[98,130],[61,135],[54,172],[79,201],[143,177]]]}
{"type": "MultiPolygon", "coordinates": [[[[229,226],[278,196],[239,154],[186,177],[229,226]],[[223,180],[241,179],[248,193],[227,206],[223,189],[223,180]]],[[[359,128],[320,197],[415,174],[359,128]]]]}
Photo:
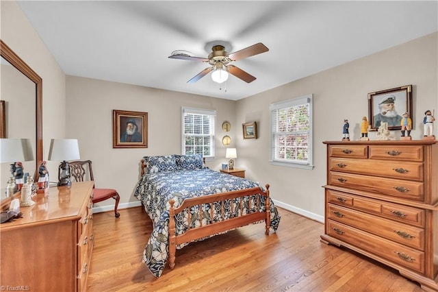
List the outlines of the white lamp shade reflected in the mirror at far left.
{"type": "Polygon", "coordinates": [[[34,160],[30,139],[1,138],[0,162],[23,162],[34,160]]]}

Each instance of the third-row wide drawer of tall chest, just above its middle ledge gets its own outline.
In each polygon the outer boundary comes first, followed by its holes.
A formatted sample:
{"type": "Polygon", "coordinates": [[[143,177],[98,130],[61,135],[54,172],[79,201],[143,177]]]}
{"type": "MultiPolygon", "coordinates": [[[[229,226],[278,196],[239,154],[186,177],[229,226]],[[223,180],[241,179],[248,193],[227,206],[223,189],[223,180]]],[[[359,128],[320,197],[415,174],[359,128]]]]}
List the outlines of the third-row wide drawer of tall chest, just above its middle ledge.
{"type": "Polygon", "coordinates": [[[329,184],[417,201],[424,199],[424,184],[422,182],[331,171],[329,174],[329,184]]]}

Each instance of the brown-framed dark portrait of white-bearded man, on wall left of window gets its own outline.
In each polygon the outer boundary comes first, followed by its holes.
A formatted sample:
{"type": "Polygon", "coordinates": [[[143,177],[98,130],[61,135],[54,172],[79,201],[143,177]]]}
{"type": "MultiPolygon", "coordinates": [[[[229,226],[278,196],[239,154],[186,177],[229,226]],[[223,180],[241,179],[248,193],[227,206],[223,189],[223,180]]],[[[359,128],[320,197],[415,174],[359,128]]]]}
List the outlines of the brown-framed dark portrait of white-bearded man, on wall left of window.
{"type": "Polygon", "coordinates": [[[147,148],[148,113],[112,111],[112,147],[147,148]]]}

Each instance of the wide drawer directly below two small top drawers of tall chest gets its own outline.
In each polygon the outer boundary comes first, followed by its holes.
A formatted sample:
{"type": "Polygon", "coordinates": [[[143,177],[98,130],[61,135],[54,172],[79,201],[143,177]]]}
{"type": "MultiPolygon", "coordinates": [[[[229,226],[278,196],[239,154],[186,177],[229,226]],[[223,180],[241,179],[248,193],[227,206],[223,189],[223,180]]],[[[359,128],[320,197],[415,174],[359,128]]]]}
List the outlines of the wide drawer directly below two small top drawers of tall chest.
{"type": "Polygon", "coordinates": [[[330,158],[330,170],[376,175],[384,178],[423,180],[423,164],[421,162],[330,158]]]}

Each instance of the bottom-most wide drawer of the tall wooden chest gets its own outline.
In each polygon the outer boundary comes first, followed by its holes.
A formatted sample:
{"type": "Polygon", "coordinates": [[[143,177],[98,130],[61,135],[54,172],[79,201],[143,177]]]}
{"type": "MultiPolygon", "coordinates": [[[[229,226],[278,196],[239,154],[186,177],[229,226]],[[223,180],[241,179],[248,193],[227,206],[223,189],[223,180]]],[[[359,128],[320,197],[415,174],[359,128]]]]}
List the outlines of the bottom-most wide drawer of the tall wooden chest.
{"type": "Polygon", "coordinates": [[[424,252],[331,219],[327,220],[326,224],[326,232],[330,236],[424,274],[424,252]]]}

